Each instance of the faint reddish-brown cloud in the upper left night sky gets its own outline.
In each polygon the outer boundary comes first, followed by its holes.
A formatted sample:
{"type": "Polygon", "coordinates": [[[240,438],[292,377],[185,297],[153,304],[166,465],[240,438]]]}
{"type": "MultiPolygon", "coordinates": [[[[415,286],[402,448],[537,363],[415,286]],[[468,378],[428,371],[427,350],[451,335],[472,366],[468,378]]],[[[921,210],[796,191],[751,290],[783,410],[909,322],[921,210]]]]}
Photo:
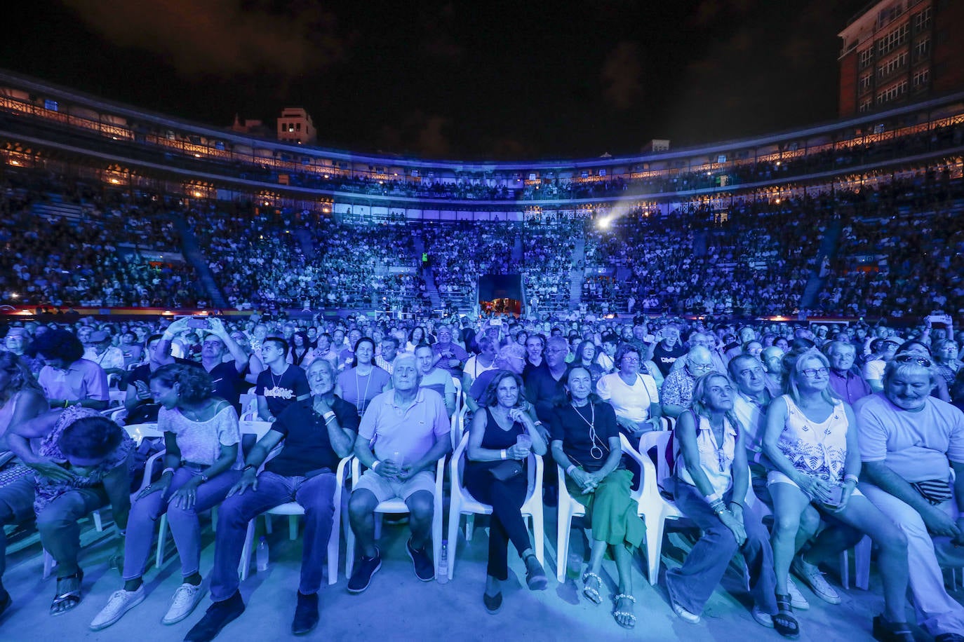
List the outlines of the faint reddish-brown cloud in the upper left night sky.
{"type": "Polygon", "coordinates": [[[293,2],[283,14],[243,0],[64,0],[104,39],[158,54],[184,76],[298,75],[344,55],[335,18],[293,2]]]}

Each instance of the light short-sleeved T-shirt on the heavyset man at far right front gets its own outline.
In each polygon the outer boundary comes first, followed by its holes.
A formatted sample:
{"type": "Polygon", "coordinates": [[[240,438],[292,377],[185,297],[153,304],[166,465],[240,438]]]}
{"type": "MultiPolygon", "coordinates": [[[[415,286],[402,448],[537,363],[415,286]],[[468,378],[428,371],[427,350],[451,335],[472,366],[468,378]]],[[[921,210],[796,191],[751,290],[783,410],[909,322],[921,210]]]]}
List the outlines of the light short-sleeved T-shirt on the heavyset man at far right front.
{"type": "Polygon", "coordinates": [[[917,412],[898,408],[884,393],[854,409],[864,461],[883,461],[906,481],[947,480],[952,462],[964,463],[964,413],[928,397],[917,412]]]}

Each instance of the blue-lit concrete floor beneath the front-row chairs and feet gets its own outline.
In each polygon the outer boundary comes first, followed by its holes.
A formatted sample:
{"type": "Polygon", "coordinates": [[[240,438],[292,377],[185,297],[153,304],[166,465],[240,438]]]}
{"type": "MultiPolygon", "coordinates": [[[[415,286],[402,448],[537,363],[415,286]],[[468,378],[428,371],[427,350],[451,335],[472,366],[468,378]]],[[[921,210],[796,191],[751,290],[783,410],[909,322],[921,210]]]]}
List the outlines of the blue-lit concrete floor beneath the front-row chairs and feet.
{"type": "MultiPolygon", "coordinates": [[[[285,518],[274,518],[274,533],[269,536],[271,565],[264,573],[253,573],[241,586],[246,612],[222,632],[218,639],[269,640],[293,639],[290,633],[295,591],[301,558],[301,544],[288,540],[285,518]]],[[[555,580],[555,511],[549,509],[546,524],[551,536],[546,540],[549,589],[530,592],[524,585],[524,567],[510,553],[510,579],[503,584],[504,605],[489,615],[482,605],[487,554],[486,518],[477,518],[475,536],[466,543],[460,538],[455,578],[447,584],[421,582],[404,551],[407,526],[386,525],[380,546],[382,570],[361,595],[350,595],[343,569],[337,584],[321,591],[321,624],[307,639],[390,639],[435,640],[463,638],[525,640],[782,640],[772,629],[763,629],[752,619],[742,578],[729,572],[703,614],[703,621],[690,625],[670,609],[660,585],[650,586],[643,577],[643,560],[636,557],[633,588],[636,596],[636,629],[621,629],[611,616],[611,596],[616,593],[615,566],[603,566],[603,603],[596,605],[581,595],[576,582],[555,580]]],[[[258,524],[260,525],[260,520],[258,524]]],[[[210,569],[214,552],[213,534],[204,530],[201,569],[210,569]]],[[[573,550],[582,551],[581,532],[574,531],[573,550]]],[[[107,603],[111,592],[120,588],[117,571],[107,567],[113,545],[103,533],[86,528],[81,565],[85,570],[84,600],[59,617],[47,614],[55,590],[54,580],[41,579],[42,560],[36,535],[14,539],[8,552],[4,584],[13,595],[13,605],[0,619],[0,640],[180,640],[200,619],[207,598],[184,622],[165,627],[160,620],[167,610],[174,589],[180,582],[176,554],[165,567],[147,573],[147,600],[129,611],[110,629],[93,632],[88,628],[94,615],[107,603]]],[[[672,534],[664,546],[663,561],[674,566],[684,557],[683,540],[672,534]],[[680,548],[683,547],[683,548],[680,548]]],[[[449,547],[449,554],[452,554],[449,547]]],[[[343,563],[343,557],[342,557],[343,563]]],[[[836,569],[829,567],[830,579],[837,582],[836,569]]],[[[206,583],[206,579],[205,579],[206,583]]],[[[799,584],[802,586],[802,583],[799,584]]],[[[870,636],[871,617],[880,612],[879,578],[871,576],[870,592],[851,588],[842,590],[844,603],[823,603],[802,588],[812,607],[797,612],[803,640],[861,642],[870,636]]],[[[958,598],[961,595],[956,594],[958,598]]],[[[915,629],[918,640],[927,640],[915,629]]]]}

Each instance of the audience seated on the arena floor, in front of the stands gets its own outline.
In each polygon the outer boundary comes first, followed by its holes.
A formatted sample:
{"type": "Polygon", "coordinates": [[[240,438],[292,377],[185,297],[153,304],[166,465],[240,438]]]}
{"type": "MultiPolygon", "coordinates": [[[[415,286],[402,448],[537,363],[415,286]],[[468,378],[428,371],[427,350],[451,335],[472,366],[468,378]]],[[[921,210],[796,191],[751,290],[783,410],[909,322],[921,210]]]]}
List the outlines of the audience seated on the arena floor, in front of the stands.
{"type": "MultiPolygon", "coordinates": [[[[440,543],[432,524],[443,500],[436,471],[465,440],[465,473],[449,482],[493,507],[481,591],[491,613],[504,601],[510,543],[528,588],[549,585],[541,545],[521,515],[527,469],[540,456],[547,465],[537,501],[554,505],[565,486],[592,526],[584,567],[576,568],[584,599],[602,602],[611,551],[615,623],[631,629],[640,608],[659,608],[636,603],[630,572],[648,532],[632,499],[643,482],[633,461],[655,455],[671,469],[661,491],[699,526],[682,565],[667,564],[664,580],[668,605],[683,621],[700,622],[741,552],[753,618],[795,637],[806,629],[800,611],[808,603],[798,584],[840,603],[841,589],[820,564],[867,535],[883,585],[881,614],[869,624],[874,636],[912,640],[908,620],[916,617],[941,642],[964,639],[964,606],[941,576],[942,567],[964,564],[957,548],[964,543],[964,332],[950,316],[892,327],[254,314],[27,321],[4,332],[0,433],[9,452],[0,523],[36,522],[56,562],[50,613],[57,615],[83,600],[78,520],[110,507],[117,534],[110,563],[123,583],[94,630],[151,598],[144,570],[157,521],[167,515],[183,581],[162,622],[192,615],[209,573],[212,603],[185,639],[213,639],[245,609],[237,568],[248,523],[287,501],[306,511],[292,632],[314,629],[321,567],[338,527],[335,470],[348,456],[366,469],[350,487],[345,517],[357,546],[348,591],[362,593],[381,568],[373,511],[392,498],[410,513],[406,550],[415,576],[435,578],[440,543]],[[255,402],[242,405],[246,394],[255,402]],[[112,399],[120,405],[111,407],[112,399]],[[266,423],[254,445],[240,429],[246,413],[266,423]],[[164,450],[161,470],[147,476],[143,444],[121,427],[144,423],[156,424],[163,438],[155,447],[164,450]],[[453,438],[453,429],[465,434],[453,438]],[[667,429],[672,449],[650,452],[649,436],[667,429]],[[213,506],[208,570],[198,513],[213,506]]],[[[5,537],[0,546],[2,573],[5,537]]],[[[455,554],[456,543],[449,547],[455,554]]],[[[21,587],[9,589],[0,588],[0,612],[21,587]]]]}

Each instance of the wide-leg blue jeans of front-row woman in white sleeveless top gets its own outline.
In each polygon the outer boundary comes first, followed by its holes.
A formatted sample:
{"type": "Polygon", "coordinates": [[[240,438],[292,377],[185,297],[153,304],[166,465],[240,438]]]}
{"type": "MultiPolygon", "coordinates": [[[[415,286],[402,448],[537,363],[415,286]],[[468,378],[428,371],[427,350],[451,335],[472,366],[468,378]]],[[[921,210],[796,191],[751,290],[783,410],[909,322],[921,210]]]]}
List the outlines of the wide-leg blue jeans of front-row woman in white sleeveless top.
{"type": "MultiPolygon", "coordinates": [[[[710,595],[726,573],[730,560],[739,551],[743,553],[750,572],[753,603],[764,613],[776,613],[774,589],[777,580],[773,573],[773,550],[760,516],[752,508],[743,509],[746,541],[738,547],[733,531],[723,526],[695,486],[677,481],[675,497],[676,505],[683,514],[703,529],[703,537],[686,556],[683,566],[666,572],[666,589],[673,601],[690,613],[702,613],[710,595]]],[[[729,504],[732,498],[731,489],[723,500],[729,504]]]]}

